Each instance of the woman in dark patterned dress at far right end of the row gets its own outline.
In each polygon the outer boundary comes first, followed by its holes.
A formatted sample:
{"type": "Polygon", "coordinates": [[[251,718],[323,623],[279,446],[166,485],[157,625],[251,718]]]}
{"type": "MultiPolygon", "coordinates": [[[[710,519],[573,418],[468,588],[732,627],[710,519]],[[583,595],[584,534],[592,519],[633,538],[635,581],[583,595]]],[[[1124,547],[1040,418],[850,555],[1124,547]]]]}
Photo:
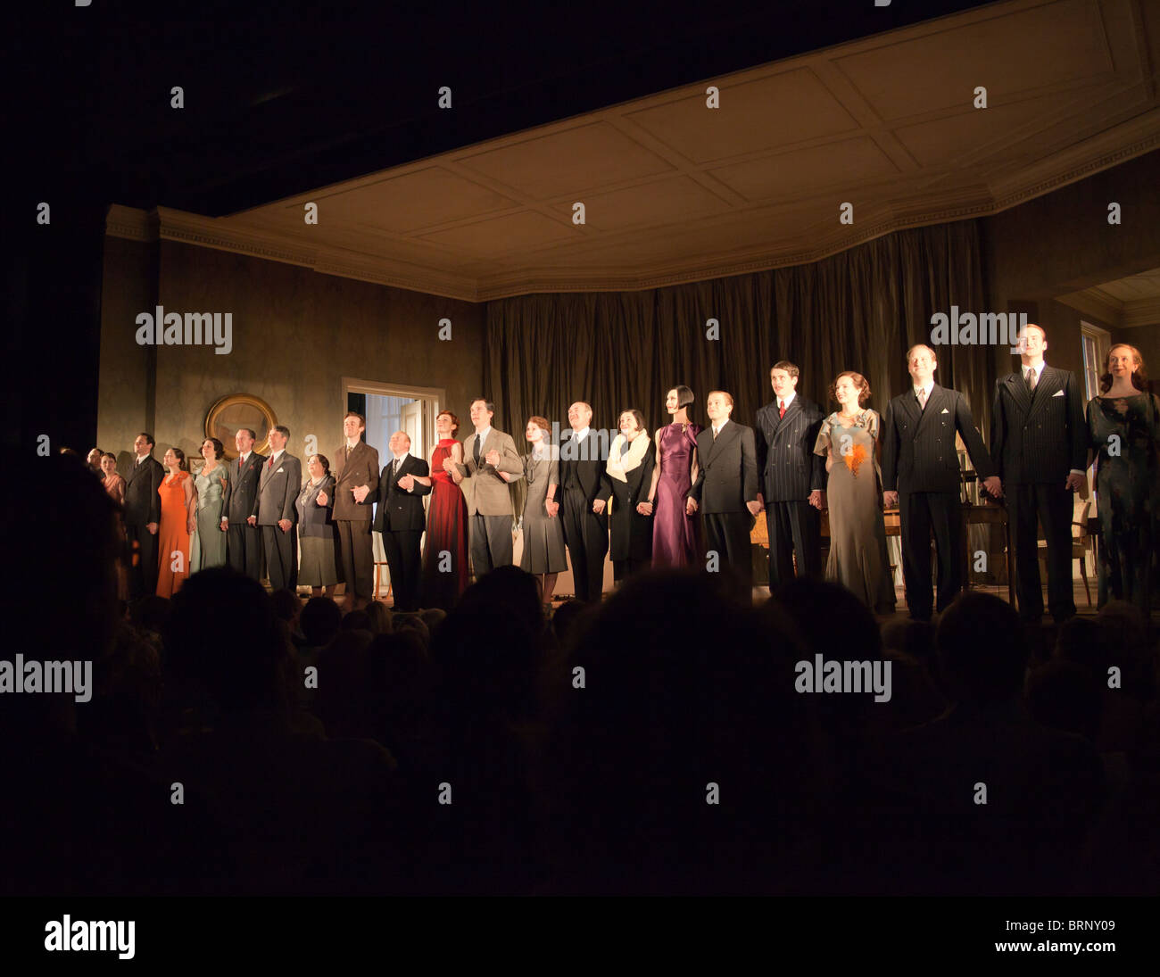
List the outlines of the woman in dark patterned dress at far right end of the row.
{"type": "Polygon", "coordinates": [[[1144,357],[1134,346],[1108,350],[1101,396],[1087,406],[1096,455],[1095,498],[1100,515],[1100,607],[1110,598],[1145,614],[1157,543],[1160,478],[1160,400],[1147,392],[1144,357]]]}

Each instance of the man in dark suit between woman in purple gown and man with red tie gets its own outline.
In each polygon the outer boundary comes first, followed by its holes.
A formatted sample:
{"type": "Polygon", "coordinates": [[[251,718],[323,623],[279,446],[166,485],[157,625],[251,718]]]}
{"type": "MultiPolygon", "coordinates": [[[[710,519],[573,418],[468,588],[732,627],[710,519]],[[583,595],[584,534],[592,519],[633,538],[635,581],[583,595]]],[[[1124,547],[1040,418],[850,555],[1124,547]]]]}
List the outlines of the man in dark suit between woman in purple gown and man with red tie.
{"type": "Polygon", "coordinates": [[[757,492],[757,453],[753,428],[730,420],[733,398],[713,390],[705,399],[710,427],[697,435],[697,480],[689,490],[686,512],[703,513],[705,542],[718,564],[728,564],[745,584],[753,586],[749,531],[761,512],[757,492]]]}

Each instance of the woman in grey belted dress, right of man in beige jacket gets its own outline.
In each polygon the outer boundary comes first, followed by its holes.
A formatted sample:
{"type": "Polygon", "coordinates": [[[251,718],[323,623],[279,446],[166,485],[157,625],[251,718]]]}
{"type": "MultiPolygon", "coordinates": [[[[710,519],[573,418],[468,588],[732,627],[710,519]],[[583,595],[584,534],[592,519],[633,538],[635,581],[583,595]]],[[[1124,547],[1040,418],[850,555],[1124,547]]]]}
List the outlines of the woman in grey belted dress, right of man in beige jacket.
{"type": "MultiPolygon", "coordinates": [[[[523,555],[520,569],[539,578],[544,606],[552,602],[556,576],[568,569],[564,555],[564,527],[557,514],[560,504],[556,490],[560,484],[559,449],[549,442],[551,430],[545,418],[528,418],[525,436],[531,450],[523,456],[527,494],[523,505],[523,555]]],[[[507,482],[519,476],[503,475],[507,482]]]]}

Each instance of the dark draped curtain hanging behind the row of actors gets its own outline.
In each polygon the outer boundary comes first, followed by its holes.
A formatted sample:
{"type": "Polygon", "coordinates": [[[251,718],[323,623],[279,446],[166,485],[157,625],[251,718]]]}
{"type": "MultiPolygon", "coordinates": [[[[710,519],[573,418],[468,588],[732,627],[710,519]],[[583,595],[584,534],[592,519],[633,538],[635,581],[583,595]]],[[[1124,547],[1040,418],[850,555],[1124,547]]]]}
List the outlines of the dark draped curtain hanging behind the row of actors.
{"type": "MultiPolygon", "coordinates": [[[[979,231],[974,220],[899,231],[812,265],[635,292],[528,295],[487,303],[485,393],[494,424],[527,448],[527,419],[542,414],[567,429],[574,400],[593,406],[593,426],[611,428],[638,407],[650,432],[667,424],[665,395],[693,388],[690,418],[706,424],[710,390],[733,395],[733,419],[752,425],[773,399],[769,369],[791,360],[798,391],[822,405],[842,370],[870,383],[869,406],[909,383],[906,350],[930,342],[930,317],[983,307],[979,231]],[[706,339],[705,323],[720,324],[706,339]]],[[[998,311],[998,310],[996,310],[998,311]]],[[[970,400],[987,430],[994,353],[991,347],[935,349],[935,382],[970,400]]],[[[466,404],[454,405],[466,412],[466,404]]]]}

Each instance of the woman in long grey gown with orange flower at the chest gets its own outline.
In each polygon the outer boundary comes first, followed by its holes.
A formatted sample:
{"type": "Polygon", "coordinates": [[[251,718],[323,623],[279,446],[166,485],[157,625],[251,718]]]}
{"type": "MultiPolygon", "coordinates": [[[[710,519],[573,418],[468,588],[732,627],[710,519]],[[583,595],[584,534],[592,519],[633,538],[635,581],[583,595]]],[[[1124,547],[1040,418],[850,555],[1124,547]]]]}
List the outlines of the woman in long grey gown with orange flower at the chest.
{"type": "Polygon", "coordinates": [[[826,458],[829,473],[829,559],[826,578],[853,591],[877,614],[893,614],[894,581],[886,556],[882,514],[878,432],[882,420],[863,405],[870,384],[853,370],[838,375],[829,397],[839,410],[821,422],[814,454],[826,458]]]}

